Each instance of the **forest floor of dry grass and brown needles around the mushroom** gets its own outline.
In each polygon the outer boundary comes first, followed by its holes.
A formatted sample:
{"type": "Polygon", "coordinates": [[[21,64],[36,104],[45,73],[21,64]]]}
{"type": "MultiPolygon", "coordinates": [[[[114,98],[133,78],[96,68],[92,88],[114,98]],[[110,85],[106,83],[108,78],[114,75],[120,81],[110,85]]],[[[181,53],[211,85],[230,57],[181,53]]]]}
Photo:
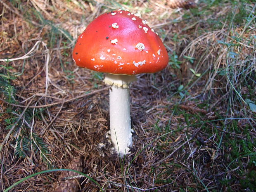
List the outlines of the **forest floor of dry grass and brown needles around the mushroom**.
{"type": "MultiPolygon", "coordinates": [[[[161,0],[0,0],[0,188],[82,156],[83,173],[104,191],[254,191],[256,120],[246,99],[255,103],[255,12],[248,25],[234,24],[232,14],[220,19],[235,10],[231,2],[206,2],[193,12],[161,0]],[[102,74],[71,58],[87,24],[120,7],[142,14],[180,67],[141,74],[130,86],[134,135],[125,159],[105,137],[102,74]]],[[[58,174],[12,191],[51,190],[58,174]]],[[[88,178],[80,190],[100,191],[88,178]]]]}

